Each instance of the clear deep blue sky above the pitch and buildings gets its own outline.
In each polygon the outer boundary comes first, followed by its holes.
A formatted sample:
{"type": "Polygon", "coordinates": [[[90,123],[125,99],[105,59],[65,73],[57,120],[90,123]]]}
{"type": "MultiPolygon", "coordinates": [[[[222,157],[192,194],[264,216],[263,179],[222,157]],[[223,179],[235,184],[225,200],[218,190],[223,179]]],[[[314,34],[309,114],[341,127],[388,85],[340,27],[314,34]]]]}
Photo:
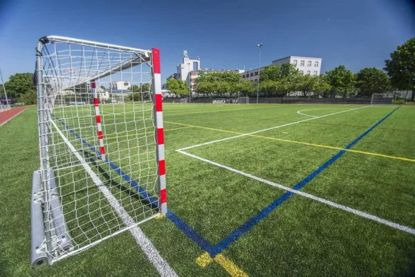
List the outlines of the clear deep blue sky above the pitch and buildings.
{"type": "MultiPolygon", "coordinates": [[[[107,1],[0,0],[0,68],[7,80],[35,69],[35,46],[62,35],[136,48],[160,48],[163,80],[183,50],[202,68],[246,69],[288,55],[382,69],[396,46],[415,37],[415,6],[404,0],[107,1]]],[[[6,81],[5,80],[5,81],[6,81]]]]}

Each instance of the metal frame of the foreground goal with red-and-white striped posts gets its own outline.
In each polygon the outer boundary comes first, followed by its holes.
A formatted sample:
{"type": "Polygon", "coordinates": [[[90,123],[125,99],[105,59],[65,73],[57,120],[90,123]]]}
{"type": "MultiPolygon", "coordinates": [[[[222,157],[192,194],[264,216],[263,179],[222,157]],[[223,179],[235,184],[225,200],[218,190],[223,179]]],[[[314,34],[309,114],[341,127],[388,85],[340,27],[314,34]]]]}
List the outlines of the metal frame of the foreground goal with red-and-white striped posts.
{"type": "MultiPolygon", "coordinates": [[[[141,62],[140,62],[141,63],[141,62]]],[[[138,64],[138,63],[137,63],[138,64]]],[[[99,74],[93,75],[90,82],[92,84],[92,91],[94,94],[94,105],[95,106],[95,112],[98,111],[98,98],[96,97],[96,91],[95,91],[95,79],[98,78],[104,78],[108,75],[111,75],[113,73],[116,73],[117,71],[123,71],[125,69],[129,69],[132,66],[137,65],[135,62],[130,62],[129,64],[120,64],[118,67],[112,67],[111,69],[108,69],[108,71],[101,72],[99,74]],[[133,64],[133,65],[131,65],[133,64]]],[[[158,48],[151,48],[150,50],[142,50],[139,48],[130,48],[125,46],[118,46],[113,44],[104,44],[100,42],[92,42],[88,40],[83,39],[74,39],[69,37],[59,37],[59,36],[48,36],[48,37],[42,37],[39,39],[39,42],[37,43],[36,48],[36,69],[35,69],[35,85],[37,87],[37,115],[38,115],[38,127],[39,127],[39,158],[40,158],[40,168],[39,170],[36,170],[33,172],[33,187],[32,187],[32,199],[31,199],[31,237],[32,237],[32,243],[31,243],[31,253],[32,253],[32,267],[39,267],[41,265],[45,265],[46,263],[48,265],[52,265],[53,262],[56,262],[57,260],[61,260],[62,258],[66,258],[67,256],[72,256],[75,253],[78,253],[80,251],[83,251],[84,249],[88,249],[89,247],[92,247],[95,244],[98,244],[102,240],[105,240],[107,238],[113,237],[113,235],[117,235],[118,233],[121,233],[123,231],[127,231],[131,229],[132,227],[145,222],[147,220],[150,220],[151,218],[156,217],[157,215],[165,215],[167,213],[167,190],[166,190],[166,179],[165,179],[165,147],[164,147],[164,132],[163,132],[163,103],[162,103],[162,94],[161,94],[161,76],[160,76],[160,51],[158,48]],[[53,257],[53,255],[50,254],[50,252],[56,251],[52,249],[52,246],[50,245],[51,241],[51,230],[49,229],[49,224],[46,224],[46,219],[50,218],[50,215],[52,213],[55,213],[56,211],[63,211],[62,210],[62,204],[58,201],[53,201],[53,199],[50,197],[51,194],[53,194],[54,188],[54,178],[53,178],[53,170],[50,168],[49,163],[49,147],[48,141],[50,134],[46,131],[47,129],[53,128],[52,125],[55,125],[53,121],[50,119],[50,107],[47,107],[48,105],[45,105],[45,99],[46,96],[44,95],[44,57],[42,54],[42,49],[46,44],[50,44],[53,42],[64,42],[68,44],[82,44],[82,46],[93,46],[93,47],[102,47],[102,48],[108,48],[108,49],[114,49],[116,51],[133,51],[134,53],[137,53],[137,60],[142,59],[142,57],[145,57],[144,62],[149,64],[150,67],[150,75],[151,75],[151,85],[152,85],[152,101],[153,101],[153,114],[154,114],[154,141],[155,141],[155,153],[156,153],[156,163],[157,163],[157,183],[158,183],[158,213],[156,215],[151,215],[150,217],[145,218],[145,220],[142,220],[140,222],[129,222],[128,219],[125,219],[126,216],[123,213],[125,211],[123,210],[122,206],[118,204],[118,206],[115,209],[116,213],[118,213],[120,219],[122,219],[122,222],[126,226],[124,229],[121,229],[119,231],[116,231],[114,233],[110,233],[104,238],[100,238],[99,240],[92,242],[90,245],[86,245],[85,247],[81,247],[80,249],[76,249],[76,251],[72,251],[69,253],[64,253],[62,256],[53,257]],[[49,113],[49,114],[48,114],[49,113]],[[46,114],[48,116],[46,116],[46,114]],[[49,118],[49,120],[48,120],[49,118]],[[50,208],[53,206],[53,208],[50,208]],[[124,220],[125,219],[125,220],[124,220]]],[[[99,126],[99,114],[96,114],[97,119],[97,127],[99,126]]],[[[59,132],[59,131],[58,131],[59,132]]],[[[100,131],[100,128],[98,127],[98,138],[100,139],[100,144],[102,143],[102,131],[100,131]]],[[[71,147],[69,143],[69,147],[71,147]]],[[[107,160],[104,156],[104,153],[102,153],[102,161],[111,163],[111,161],[107,160]]],[[[87,172],[86,168],[86,172],[87,172]]],[[[120,173],[118,173],[120,174],[120,173]]],[[[91,176],[91,173],[89,173],[91,176]]],[[[94,178],[91,176],[92,179],[94,178]]],[[[95,175],[96,179],[96,175],[95,175]]],[[[98,178],[99,179],[99,178],[98,178]]],[[[101,181],[102,182],[102,181],[101,181]]],[[[96,183],[95,183],[96,184],[96,183]]],[[[98,184],[97,184],[98,186],[98,184]]],[[[104,186],[103,186],[104,187],[104,186]]],[[[98,186],[99,188],[99,186],[98,186]]],[[[107,188],[99,188],[100,190],[105,190],[107,188]]],[[[108,190],[108,189],[107,189],[108,190]]],[[[111,197],[110,192],[109,197],[111,197]]],[[[107,197],[107,195],[105,195],[107,197]]],[[[55,198],[56,200],[56,198],[55,198]]],[[[112,200],[107,197],[107,200],[112,200]]],[[[118,203],[118,202],[117,202],[118,203]]],[[[111,206],[113,204],[110,202],[111,206]]],[[[59,216],[60,218],[61,216],[59,216]]],[[[63,214],[62,214],[63,217],[63,214]]],[[[56,217],[55,217],[56,218],[56,217]]],[[[131,219],[131,217],[130,217],[131,219]]],[[[62,219],[61,219],[62,220],[62,219]]],[[[61,222],[62,223],[62,222],[61,222]]],[[[64,222],[63,217],[63,224],[59,226],[66,226],[66,222],[64,222]]],[[[67,229],[66,229],[67,230],[67,229]]],[[[57,231],[55,231],[57,233],[57,231]]],[[[68,233],[63,233],[62,238],[67,235],[68,238],[66,239],[66,242],[70,242],[71,238],[68,233]]],[[[66,250],[71,249],[71,245],[66,244],[66,246],[61,247],[67,247],[66,250]]]]}

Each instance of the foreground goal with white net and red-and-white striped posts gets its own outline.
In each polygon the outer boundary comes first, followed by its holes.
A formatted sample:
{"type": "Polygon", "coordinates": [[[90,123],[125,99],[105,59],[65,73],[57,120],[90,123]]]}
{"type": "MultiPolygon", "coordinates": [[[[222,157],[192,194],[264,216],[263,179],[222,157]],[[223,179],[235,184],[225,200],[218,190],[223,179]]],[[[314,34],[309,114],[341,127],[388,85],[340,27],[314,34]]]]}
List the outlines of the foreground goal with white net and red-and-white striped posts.
{"type": "Polygon", "coordinates": [[[167,213],[158,49],[51,36],[36,55],[33,267],[167,213]]]}

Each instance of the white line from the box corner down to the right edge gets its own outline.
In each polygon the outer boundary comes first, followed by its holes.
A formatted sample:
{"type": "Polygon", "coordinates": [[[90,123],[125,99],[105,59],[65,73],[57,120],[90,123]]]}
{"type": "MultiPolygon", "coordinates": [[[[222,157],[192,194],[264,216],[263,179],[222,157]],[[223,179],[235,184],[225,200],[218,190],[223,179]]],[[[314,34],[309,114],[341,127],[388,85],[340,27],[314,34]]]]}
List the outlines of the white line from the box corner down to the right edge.
{"type": "Polygon", "coordinates": [[[400,224],[397,224],[397,223],[394,223],[394,222],[390,222],[389,220],[384,220],[384,219],[382,219],[380,217],[377,217],[376,215],[371,215],[369,213],[365,213],[365,212],[362,212],[362,211],[358,211],[358,210],[356,210],[354,208],[350,208],[348,206],[343,206],[341,204],[337,204],[335,202],[331,202],[329,200],[326,200],[324,198],[317,197],[315,195],[310,195],[308,193],[303,193],[302,191],[295,190],[293,188],[288,188],[286,186],[282,186],[280,184],[276,184],[276,183],[274,183],[272,181],[268,181],[266,179],[259,178],[259,177],[255,176],[255,175],[250,175],[249,173],[246,173],[246,172],[243,172],[243,171],[234,169],[234,168],[230,168],[229,166],[223,166],[221,163],[215,163],[214,161],[210,161],[208,159],[204,159],[202,157],[199,157],[199,156],[196,156],[194,154],[190,154],[190,153],[184,152],[182,150],[176,150],[176,151],[177,152],[180,152],[181,154],[185,154],[185,155],[187,155],[189,157],[192,157],[194,159],[199,159],[201,161],[205,161],[206,163],[210,163],[210,164],[212,164],[214,166],[217,166],[219,168],[225,168],[227,170],[230,170],[230,171],[235,172],[237,174],[243,175],[245,177],[249,177],[251,179],[260,181],[260,182],[262,182],[264,184],[267,184],[267,185],[270,185],[270,186],[275,186],[276,188],[281,188],[282,190],[286,190],[286,191],[289,191],[291,193],[295,193],[296,195],[301,195],[303,197],[306,197],[306,198],[309,198],[309,199],[313,199],[313,200],[315,200],[317,202],[320,202],[320,203],[323,203],[323,204],[332,206],[333,208],[339,208],[340,210],[347,211],[349,213],[353,213],[353,214],[358,215],[360,217],[365,217],[368,220],[373,220],[373,221],[378,222],[380,224],[385,224],[385,225],[390,226],[390,227],[392,227],[394,229],[398,229],[400,231],[404,231],[404,232],[410,233],[412,235],[415,235],[415,229],[412,229],[412,228],[409,228],[407,226],[403,226],[403,225],[400,225],[400,224]]]}

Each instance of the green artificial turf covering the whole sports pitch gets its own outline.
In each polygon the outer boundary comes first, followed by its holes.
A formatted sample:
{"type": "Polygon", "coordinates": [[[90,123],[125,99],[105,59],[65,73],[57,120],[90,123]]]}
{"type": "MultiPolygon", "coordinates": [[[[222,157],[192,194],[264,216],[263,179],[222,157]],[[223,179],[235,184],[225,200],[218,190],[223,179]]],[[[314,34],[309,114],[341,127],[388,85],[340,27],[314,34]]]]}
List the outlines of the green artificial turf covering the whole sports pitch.
{"type": "MultiPolygon", "coordinates": [[[[255,136],[185,150],[223,166],[293,187],[339,152],[304,143],[344,148],[396,108],[362,107],[164,105],[168,208],[210,244],[221,242],[285,191],[176,150],[306,120],[255,136]],[[346,112],[333,114],[339,111],[346,112]],[[312,116],[326,114],[333,115],[312,119],[312,116]]],[[[95,127],[88,128],[93,126],[94,118],[89,116],[93,110],[89,107],[71,109],[57,116],[65,118],[77,134],[98,147],[95,127]],[[77,116],[80,114],[82,116],[77,116]]],[[[138,113],[129,105],[107,105],[101,109],[109,159],[140,184],[145,184],[151,194],[156,194],[156,179],[147,177],[154,176],[155,161],[151,155],[147,156],[151,148],[144,148],[154,143],[151,124],[147,124],[151,123],[151,110],[142,113],[148,120],[138,121],[138,113]],[[136,138],[136,134],[140,134],[138,139],[129,139],[136,138]],[[129,167],[131,160],[140,163],[129,167]]],[[[413,160],[414,123],[415,109],[400,107],[351,150],[413,160]]],[[[138,201],[138,195],[127,187],[128,183],[85,149],[63,125],[59,125],[59,129],[77,149],[84,150],[84,157],[94,160],[96,172],[103,170],[98,173],[100,178],[113,195],[124,199],[122,206],[131,217],[138,210],[154,212],[145,202],[138,201]]],[[[53,266],[31,269],[30,194],[32,172],[39,168],[37,132],[35,108],[0,127],[0,276],[157,276],[156,269],[128,231],[53,266]]],[[[59,142],[64,147],[64,143],[59,142]]],[[[415,162],[391,157],[346,152],[302,191],[415,228],[415,162]]],[[[59,161],[69,163],[69,160],[62,157],[59,161]]],[[[68,181],[66,178],[68,176],[63,174],[62,184],[68,181]]],[[[82,195],[98,194],[96,188],[90,186],[88,191],[77,191],[74,196],[71,195],[74,189],[77,190],[73,186],[62,188],[62,193],[68,194],[65,211],[73,210],[75,207],[71,204],[76,197],[78,199],[78,214],[68,212],[68,224],[76,223],[71,218],[88,215],[91,211],[85,208],[88,200],[80,200],[82,195]],[[79,206],[82,203],[84,206],[79,206]]],[[[95,205],[105,206],[102,202],[95,205]]],[[[109,213],[91,215],[96,217],[95,222],[91,221],[95,225],[113,222],[114,215],[109,213]]],[[[140,220],[140,216],[134,219],[140,220]]],[[[118,222],[102,226],[96,232],[119,228],[122,224],[118,222]]],[[[140,228],[179,276],[228,275],[216,262],[199,267],[196,258],[205,251],[167,217],[145,222],[140,228]]],[[[77,234],[76,230],[84,233],[75,227],[73,230],[73,235],[77,234]]],[[[84,240],[80,236],[77,238],[84,240]]],[[[414,253],[414,235],[299,195],[290,197],[223,251],[223,255],[248,276],[411,276],[415,270],[414,253]]]]}

